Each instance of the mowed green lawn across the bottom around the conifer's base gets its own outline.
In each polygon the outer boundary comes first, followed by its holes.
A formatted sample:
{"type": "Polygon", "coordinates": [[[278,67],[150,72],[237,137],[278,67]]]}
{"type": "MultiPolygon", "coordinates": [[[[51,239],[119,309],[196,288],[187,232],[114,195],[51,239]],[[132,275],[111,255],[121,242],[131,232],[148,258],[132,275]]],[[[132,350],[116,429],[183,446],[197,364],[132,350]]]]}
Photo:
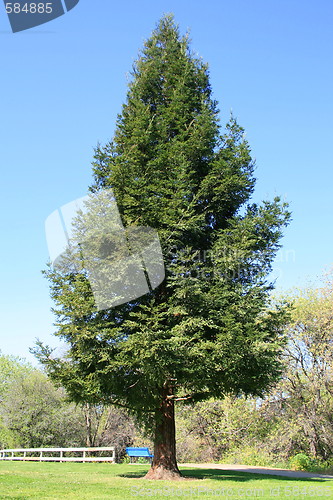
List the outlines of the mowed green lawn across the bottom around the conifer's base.
{"type": "Polygon", "coordinates": [[[182,468],[189,481],[147,481],[146,465],[0,462],[0,499],[333,498],[331,479],[182,468]]]}

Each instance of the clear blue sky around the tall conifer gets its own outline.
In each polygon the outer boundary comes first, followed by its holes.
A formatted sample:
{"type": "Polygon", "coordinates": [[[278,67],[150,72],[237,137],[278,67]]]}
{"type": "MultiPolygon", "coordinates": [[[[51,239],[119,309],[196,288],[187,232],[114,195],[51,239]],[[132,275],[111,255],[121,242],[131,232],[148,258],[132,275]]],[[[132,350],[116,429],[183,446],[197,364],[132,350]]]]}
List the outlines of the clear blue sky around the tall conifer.
{"type": "Polygon", "coordinates": [[[41,269],[44,221],[84,196],[98,141],[111,138],[128,72],[158,19],[173,12],[210,65],[221,119],[232,110],[257,161],[256,200],[281,195],[293,222],[278,289],[333,263],[333,3],[331,0],[80,0],[48,24],[13,34],[0,5],[0,349],[33,358],[56,345],[41,269]]]}

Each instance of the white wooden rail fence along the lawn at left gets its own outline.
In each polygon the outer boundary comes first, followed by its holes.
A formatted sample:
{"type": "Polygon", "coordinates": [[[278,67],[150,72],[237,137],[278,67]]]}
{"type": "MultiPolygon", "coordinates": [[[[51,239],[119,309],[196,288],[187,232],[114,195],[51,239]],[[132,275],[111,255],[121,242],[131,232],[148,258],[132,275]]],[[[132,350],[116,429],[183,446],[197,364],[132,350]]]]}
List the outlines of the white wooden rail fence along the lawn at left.
{"type": "Polygon", "coordinates": [[[115,463],[114,446],[95,448],[15,448],[0,450],[0,460],[32,460],[37,462],[113,462],[115,463]],[[97,452],[111,452],[110,456],[91,456],[97,452]],[[50,454],[59,456],[50,456],[50,454]],[[66,456],[71,453],[72,456],[66,456]],[[80,454],[78,456],[77,454],[80,454]],[[88,455],[87,455],[88,454],[88,455]]]}

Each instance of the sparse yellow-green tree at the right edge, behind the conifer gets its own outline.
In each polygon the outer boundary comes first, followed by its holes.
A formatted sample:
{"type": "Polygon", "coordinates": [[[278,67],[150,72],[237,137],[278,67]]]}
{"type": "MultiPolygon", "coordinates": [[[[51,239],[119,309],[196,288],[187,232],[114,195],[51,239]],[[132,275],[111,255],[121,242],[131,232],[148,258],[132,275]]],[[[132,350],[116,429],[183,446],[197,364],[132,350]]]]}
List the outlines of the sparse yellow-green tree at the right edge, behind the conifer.
{"type": "Polygon", "coordinates": [[[279,421],[275,447],[285,456],[305,452],[333,455],[333,286],[291,294],[286,369],[270,398],[279,421]],[[283,438],[281,439],[281,436],[283,438]]]}

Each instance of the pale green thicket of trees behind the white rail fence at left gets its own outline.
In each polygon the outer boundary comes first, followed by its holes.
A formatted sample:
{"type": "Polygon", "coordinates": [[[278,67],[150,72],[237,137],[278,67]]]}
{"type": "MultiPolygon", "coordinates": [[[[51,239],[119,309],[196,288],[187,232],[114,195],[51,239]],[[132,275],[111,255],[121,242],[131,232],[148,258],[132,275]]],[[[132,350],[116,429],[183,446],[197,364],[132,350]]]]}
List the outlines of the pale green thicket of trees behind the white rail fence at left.
{"type": "Polygon", "coordinates": [[[140,436],[125,410],[73,404],[45,373],[0,354],[0,448],[115,446],[121,460],[140,436]]]}

